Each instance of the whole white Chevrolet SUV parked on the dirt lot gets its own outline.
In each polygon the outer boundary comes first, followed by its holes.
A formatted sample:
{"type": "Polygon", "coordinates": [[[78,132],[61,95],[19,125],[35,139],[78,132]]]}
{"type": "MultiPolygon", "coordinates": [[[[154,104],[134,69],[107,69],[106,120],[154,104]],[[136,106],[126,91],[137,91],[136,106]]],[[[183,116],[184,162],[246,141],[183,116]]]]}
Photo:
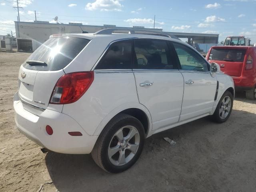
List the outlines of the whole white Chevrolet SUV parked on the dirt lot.
{"type": "Polygon", "coordinates": [[[20,132],[55,152],[91,153],[116,173],[152,134],[229,118],[234,82],[218,64],[166,34],[114,31],[52,35],[30,55],[14,95],[20,132]]]}

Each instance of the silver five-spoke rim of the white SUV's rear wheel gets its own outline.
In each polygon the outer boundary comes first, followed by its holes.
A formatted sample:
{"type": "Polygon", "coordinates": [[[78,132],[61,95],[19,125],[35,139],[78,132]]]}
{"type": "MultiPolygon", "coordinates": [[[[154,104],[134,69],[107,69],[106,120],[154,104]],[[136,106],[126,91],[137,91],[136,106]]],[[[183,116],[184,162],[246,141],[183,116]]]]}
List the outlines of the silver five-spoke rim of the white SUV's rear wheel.
{"type": "Polygon", "coordinates": [[[110,140],[108,158],[115,166],[127,164],[135,156],[140,144],[140,134],[134,126],[120,128],[110,140]]]}

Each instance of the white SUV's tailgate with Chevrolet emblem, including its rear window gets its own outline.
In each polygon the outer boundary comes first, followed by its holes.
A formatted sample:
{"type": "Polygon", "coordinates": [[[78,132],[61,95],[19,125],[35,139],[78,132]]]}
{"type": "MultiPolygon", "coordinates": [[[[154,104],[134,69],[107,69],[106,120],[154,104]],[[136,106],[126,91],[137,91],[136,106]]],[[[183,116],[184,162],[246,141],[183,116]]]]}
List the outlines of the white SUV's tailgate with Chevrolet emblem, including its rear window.
{"type": "Polygon", "coordinates": [[[61,111],[62,105],[49,105],[49,100],[62,70],[88,44],[82,38],[50,38],[22,64],[19,72],[19,97],[23,107],[40,115],[45,108],[61,111]],[[49,105],[49,106],[48,106],[49,105]]]}

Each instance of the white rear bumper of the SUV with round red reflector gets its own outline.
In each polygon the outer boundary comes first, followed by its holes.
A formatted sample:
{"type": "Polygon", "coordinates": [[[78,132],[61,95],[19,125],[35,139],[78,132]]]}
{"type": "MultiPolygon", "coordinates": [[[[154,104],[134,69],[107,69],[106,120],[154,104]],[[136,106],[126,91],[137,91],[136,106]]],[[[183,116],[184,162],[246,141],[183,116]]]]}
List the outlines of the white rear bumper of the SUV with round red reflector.
{"type": "Polygon", "coordinates": [[[89,154],[98,136],[89,136],[70,116],[46,109],[36,116],[22,106],[18,92],[14,95],[15,122],[18,130],[39,146],[65,154],[89,154]],[[50,125],[53,134],[48,135],[46,125],[50,125]],[[68,132],[79,131],[82,136],[70,136],[68,132]]]}

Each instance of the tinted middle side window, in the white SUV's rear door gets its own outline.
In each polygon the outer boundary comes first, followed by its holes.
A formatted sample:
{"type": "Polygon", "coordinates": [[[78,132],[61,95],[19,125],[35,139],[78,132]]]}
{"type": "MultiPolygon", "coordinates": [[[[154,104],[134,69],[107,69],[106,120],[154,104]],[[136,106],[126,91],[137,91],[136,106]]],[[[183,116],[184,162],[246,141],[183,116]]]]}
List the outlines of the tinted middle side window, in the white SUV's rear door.
{"type": "Polygon", "coordinates": [[[173,69],[167,42],[154,39],[134,40],[135,69],[173,69]]]}

